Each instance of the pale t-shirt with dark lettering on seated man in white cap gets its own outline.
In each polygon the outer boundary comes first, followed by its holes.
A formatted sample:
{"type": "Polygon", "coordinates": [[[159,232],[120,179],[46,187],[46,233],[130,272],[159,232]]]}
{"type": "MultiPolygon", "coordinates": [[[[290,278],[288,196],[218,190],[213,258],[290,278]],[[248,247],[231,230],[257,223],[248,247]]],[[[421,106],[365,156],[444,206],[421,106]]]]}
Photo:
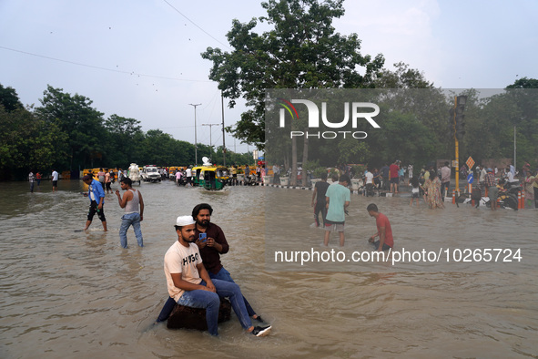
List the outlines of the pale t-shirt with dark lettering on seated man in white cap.
{"type": "Polygon", "coordinates": [[[185,291],[174,285],[171,273],[181,273],[181,279],[193,284],[202,282],[198,272],[197,264],[202,263],[202,257],[198,251],[198,246],[189,243],[188,247],[176,241],[165,254],[165,275],[167,276],[167,288],[170,297],[176,302],[185,291]]]}

